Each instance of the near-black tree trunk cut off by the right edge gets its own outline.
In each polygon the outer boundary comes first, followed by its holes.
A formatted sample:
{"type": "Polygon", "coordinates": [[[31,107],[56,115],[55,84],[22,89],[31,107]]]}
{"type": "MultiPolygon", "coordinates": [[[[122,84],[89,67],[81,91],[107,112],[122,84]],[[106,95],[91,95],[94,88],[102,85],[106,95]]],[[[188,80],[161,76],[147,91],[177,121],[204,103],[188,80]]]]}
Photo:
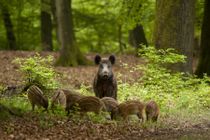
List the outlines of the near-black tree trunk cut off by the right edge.
{"type": "Polygon", "coordinates": [[[198,77],[203,77],[206,73],[210,76],[210,1],[205,0],[204,16],[201,29],[201,53],[198,67],[195,72],[198,77]]]}

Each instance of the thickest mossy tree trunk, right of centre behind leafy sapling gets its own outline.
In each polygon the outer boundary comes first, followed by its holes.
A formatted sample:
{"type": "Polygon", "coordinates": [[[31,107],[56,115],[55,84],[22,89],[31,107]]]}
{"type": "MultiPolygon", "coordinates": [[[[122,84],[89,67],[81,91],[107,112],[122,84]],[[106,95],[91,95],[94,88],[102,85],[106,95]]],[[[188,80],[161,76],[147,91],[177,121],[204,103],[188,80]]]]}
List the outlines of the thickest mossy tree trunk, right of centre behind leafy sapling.
{"type": "Polygon", "coordinates": [[[156,48],[175,48],[187,56],[173,70],[192,73],[195,0],[156,0],[156,48]]]}

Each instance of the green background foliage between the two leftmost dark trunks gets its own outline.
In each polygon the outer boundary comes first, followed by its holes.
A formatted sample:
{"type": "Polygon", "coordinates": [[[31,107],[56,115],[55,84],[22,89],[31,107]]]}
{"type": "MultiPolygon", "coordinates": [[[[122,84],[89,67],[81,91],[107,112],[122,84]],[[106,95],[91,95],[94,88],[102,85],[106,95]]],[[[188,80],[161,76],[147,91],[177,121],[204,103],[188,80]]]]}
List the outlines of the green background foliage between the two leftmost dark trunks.
{"type": "Polygon", "coordinates": [[[14,0],[8,6],[18,49],[40,49],[40,2],[14,0]]]}

